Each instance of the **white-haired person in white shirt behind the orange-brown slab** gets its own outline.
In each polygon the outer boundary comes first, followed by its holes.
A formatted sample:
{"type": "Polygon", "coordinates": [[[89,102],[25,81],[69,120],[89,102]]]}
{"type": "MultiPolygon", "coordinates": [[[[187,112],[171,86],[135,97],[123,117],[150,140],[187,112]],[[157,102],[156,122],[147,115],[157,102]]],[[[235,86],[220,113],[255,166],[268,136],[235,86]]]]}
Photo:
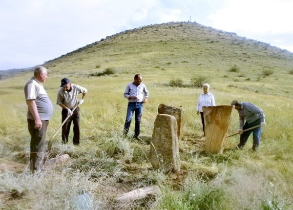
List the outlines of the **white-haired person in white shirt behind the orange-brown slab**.
{"type": "Polygon", "coordinates": [[[215,106],[215,99],[211,92],[209,92],[209,84],[203,84],[203,93],[200,94],[197,105],[196,105],[196,113],[201,116],[203,131],[205,136],[205,120],[204,120],[204,112],[203,106],[215,106]]]}

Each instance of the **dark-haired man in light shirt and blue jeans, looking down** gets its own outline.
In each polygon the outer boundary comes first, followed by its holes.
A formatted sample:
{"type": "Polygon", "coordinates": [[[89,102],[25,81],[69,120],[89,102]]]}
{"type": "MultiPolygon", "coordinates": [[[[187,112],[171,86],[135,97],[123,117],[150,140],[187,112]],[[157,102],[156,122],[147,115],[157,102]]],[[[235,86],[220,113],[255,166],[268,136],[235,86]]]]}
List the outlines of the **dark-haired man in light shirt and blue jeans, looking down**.
{"type": "Polygon", "coordinates": [[[146,85],[142,83],[142,76],[140,74],[134,76],[134,82],[127,84],[124,97],[128,99],[124,136],[127,136],[132,116],[135,112],[134,138],[142,140],[139,137],[140,122],[143,114],[143,104],[146,103],[148,98],[148,91],[146,85]]]}

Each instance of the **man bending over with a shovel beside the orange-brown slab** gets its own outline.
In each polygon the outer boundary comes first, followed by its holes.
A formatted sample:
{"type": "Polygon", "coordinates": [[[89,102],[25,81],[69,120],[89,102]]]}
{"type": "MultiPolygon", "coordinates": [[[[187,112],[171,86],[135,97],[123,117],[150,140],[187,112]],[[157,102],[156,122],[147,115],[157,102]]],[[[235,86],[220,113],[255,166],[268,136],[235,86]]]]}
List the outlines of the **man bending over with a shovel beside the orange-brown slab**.
{"type": "Polygon", "coordinates": [[[233,100],[231,102],[231,105],[235,106],[234,108],[238,111],[238,114],[239,114],[238,133],[240,134],[240,142],[237,148],[244,147],[248,137],[250,136],[252,132],[252,135],[253,135],[252,149],[254,151],[257,150],[260,143],[260,135],[261,135],[262,127],[266,125],[266,117],[265,117],[264,111],[250,102],[240,102],[238,100],[233,100]],[[254,126],[258,126],[258,127],[242,132],[243,130],[246,130],[254,126]]]}

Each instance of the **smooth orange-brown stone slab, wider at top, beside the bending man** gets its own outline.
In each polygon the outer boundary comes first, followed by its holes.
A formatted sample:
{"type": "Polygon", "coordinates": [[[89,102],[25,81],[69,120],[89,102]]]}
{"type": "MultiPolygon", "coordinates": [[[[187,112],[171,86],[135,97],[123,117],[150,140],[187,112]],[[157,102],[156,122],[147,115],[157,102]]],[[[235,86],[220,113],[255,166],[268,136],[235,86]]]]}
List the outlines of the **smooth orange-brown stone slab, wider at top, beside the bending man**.
{"type": "Polygon", "coordinates": [[[222,153],[233,106],[204,106],[206,152],[222,153]]]}

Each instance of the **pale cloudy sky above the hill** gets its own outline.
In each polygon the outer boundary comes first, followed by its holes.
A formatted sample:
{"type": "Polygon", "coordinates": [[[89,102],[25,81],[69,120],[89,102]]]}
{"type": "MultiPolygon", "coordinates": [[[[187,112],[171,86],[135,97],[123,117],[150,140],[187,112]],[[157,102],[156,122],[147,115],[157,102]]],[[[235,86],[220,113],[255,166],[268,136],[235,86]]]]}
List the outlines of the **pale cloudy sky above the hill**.
{"type": "Polygon", "coordinates": [[[155,23],[197,22],[293,52],[293,0],[0,0],[0,70],[155,23]]]}

